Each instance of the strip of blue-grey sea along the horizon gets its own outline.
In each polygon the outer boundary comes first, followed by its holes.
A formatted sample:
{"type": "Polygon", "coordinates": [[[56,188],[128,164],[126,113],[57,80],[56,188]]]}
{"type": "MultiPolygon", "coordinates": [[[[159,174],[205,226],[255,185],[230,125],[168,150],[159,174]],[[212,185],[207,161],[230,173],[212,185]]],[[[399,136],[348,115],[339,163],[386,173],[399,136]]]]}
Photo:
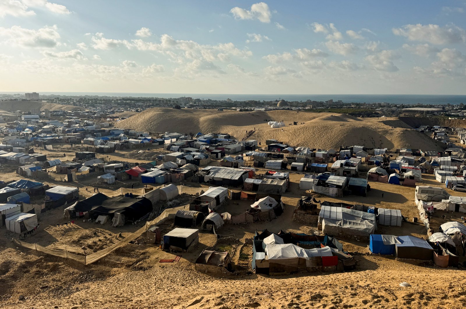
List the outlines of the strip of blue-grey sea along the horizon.
{"type": "MultiPolygon", "coordinates": [[[[6,92],[13,94],[12,92],[6,92]]],[[[15,92],[18,93],[18,92],[15,92]]],[[[284,99],[286,101],[333,101],[342,100],[345,103],[392,103],[392,104],[466,104],[466,95],[448,94],[155,94],[155,93],[111,93],[111,92],[39,92],[39,94],[57,95],[99,95],[115,97],[158,97],[179,98],[192,97],[194,99],[212,99],[233,101],[273,101],[284,99]]]]}

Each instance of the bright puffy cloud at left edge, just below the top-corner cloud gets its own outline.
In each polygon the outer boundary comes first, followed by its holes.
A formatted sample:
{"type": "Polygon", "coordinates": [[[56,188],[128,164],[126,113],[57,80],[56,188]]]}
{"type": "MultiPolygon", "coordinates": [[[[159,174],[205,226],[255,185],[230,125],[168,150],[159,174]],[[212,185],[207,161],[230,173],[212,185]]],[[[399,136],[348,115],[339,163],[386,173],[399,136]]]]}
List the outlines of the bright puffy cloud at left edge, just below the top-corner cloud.
{"type": "Polygon", "coordinates": [[[11,28],[0,27],[0,36],[8,37],[8,44],[22,47],[55,47],[59,45],[60,34],[56,25],[38,30],[26,29],[21,26],[11,28]]]}

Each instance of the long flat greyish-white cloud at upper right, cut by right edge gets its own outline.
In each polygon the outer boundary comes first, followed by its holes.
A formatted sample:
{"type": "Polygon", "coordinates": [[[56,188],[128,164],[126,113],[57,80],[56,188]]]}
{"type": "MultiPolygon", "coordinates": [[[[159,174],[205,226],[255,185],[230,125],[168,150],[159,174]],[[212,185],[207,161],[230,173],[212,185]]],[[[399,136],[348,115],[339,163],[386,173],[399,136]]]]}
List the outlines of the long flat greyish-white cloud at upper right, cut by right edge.
{"type": "Polygon", "coordinates": [[[393,28],[393,34],[408,38],[410,41],[424,41],[434,45],[466,42],[466,31],[455,25],[405,25],[393,28]]]}

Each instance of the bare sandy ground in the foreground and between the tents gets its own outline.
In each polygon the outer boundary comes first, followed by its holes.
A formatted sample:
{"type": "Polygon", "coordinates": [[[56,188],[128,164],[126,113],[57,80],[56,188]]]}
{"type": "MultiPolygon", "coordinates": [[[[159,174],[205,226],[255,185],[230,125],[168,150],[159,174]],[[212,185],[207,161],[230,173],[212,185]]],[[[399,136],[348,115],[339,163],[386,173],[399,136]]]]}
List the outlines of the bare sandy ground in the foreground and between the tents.
{"type": "MultiPolygon", "coordinates": [[[[320,118],[322,115],[308,113],[308,117],[311,116],[320,118]]],[[[425,137],[428,138],[426,135],[425,137]]],[[[42,149],[41,152],[47,153],[52,159],[62,159],[63,154],[71,159],[77,150],[79,148],[70,148],[69,145],[54,145],[54,150],[42,149]]],[[[119,151],[108,157],[105,155],[105,159],[147,162],[158,153],[164,152],[163,149],[152,148],[149,153],[141,155],[138,151],[139,149],[119,151]],[[142,160],[142,157],[147,159],[142,160]]],[[[212,163],[215,164],[217,162],[212,163]]],[[[13,170],[12,166],[2,165],[0,180],[20,179],[13,170]]],[[[258,170],[258,173],[263,172],[264,170],[258,170]]],[[[292,221],[297,200],[302,195],[308,195],[308,192],[299,189],[301,177],[300,173],[290,174],[290,189],[282,197],[285,212],[277,219],[254,224],[225,225],[217,231],[222,235],[233,234],[238,239],[238,242],[217,246],[217,249],[228,249],[237,268],[250,267],[252,247],[246,244],[246,240],[251,239],[256,230],[267,228],[274,232],[280,229],[305,233],[316,231],[316,226],[292,221]]],[[[424,174],[423,179],[426,184],[442,186],[433,179],[433,175],[424,174]]],[[[47,182],[51,185],[78,186],[80,198],[84,198],[93,194],[90,184],[95,179],[69,183],[47,182]]],[[[192,182],[185,182],[183,185],[183,192],[187,194],[195,194],[207,188],[192,182]]],[[[316,195],[316,199],[400,209],[408,222],[403,222],[401,228],[379,225],[377,233],[426,238],[424,226],[412,222],[413,217],[418,217],[413,201],[414,188],[378,182],[371,182],[370,186],[372,189],[366,197],[349,195],[333,199],[316,195]]],[[[141,188],[141,185],[135,188],[141,188]]],[[[113,193],[110,189],[100,191],[108,195],[113,193]]],[[[453,194],[453,191],[450,193],[453,194]]],[[[466,196],[459,192],[454,192],[454,195],[466,196]]],[[[230,201],[219,210],[240,214],[248,206],[245,201],[230,201]]],[[[88,250],[86,252],[95,252],[121,240],[120,232],[125,237],[144,224],[126,224],[112,228],[109,224],[99,225],[76,220],[74,225],[57,227],[57,224],[67,222],[63,218],[63,208],[65,207],[41,214],[41,226],[26,241],[54,249],[67,246],[68,250],[76,253],[82,253],[82,247],[88,250]]],[[[433,227],[437,228],[445,221],[459,220],[459,216],[454,214],[448,214],[445,220],[441,218],[442,214],[444,213],[436,213],[432,218],[433,227]]],[[[199,273],[194,270],[193,262],[202,249],[210,249],[215,244],[214,235],[203,231],[199,235],[199,246],[193,252],[183,253],[179,262],[158,262],[160,259],[173,258],[173,255],[163,252],[158,246],[140,241],[118,249],[94,264],[84,266],[72,260],[18,248],[11,242],[13,235],[1,228],[0,307],[328,309],[464,308],[466,305],[463,268],[439,269],[432,262],[397,261],[392,256],[370,255],[368,243],[347,239],[342,239],[341,242],[344,249],[356,258],[357,269],[353,272],[299,273],[275,277],[255,274],[214,276],[199,273]],[[401,282],[408,282],[411,287],[400,287],[401,282]],[[25,299],[19,301],[21,295],[25,299]]],[[[461,258],[460,262],[463,261],[464,258],[461,258]]]]}

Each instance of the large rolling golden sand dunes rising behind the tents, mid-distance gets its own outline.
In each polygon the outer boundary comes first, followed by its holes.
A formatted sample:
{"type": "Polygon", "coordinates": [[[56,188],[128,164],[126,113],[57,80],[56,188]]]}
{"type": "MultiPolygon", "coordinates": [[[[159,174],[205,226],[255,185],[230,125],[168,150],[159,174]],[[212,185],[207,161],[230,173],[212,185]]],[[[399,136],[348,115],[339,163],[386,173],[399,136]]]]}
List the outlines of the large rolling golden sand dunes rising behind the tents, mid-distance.
{"type": "Polygon", "coordinates": [[[423,148],[440,150],[444,146],[421,134],[397,118],[356,118],[348,114],[306,113],[289,110],[236,112],[198,109],[151,108],[118,122],[122,128],[150,132],[228,133],[242,139],[265,142],[276,139],[292,146],[339,148],[363,145],[382,148],[423,148]],[[270,128],[267,121],[284,121],[284,128],[270,128]],[[289,125],[296,121],[298,125],[289,125]],[[301,124],[303,123],[303,124],[301,124]],[[392,128],[396,127],[396,128],[392,128]]]}

